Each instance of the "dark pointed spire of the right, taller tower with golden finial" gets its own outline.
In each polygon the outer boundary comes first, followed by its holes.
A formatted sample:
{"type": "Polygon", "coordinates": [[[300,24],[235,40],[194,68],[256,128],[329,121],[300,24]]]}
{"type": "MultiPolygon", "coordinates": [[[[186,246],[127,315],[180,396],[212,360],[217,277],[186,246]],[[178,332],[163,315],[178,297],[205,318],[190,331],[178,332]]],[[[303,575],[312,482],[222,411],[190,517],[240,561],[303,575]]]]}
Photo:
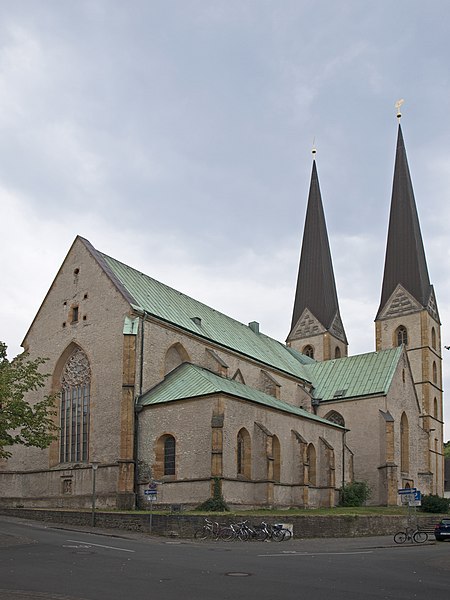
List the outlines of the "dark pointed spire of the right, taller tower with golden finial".
{"type": "Polygon", "coordinates": [[[432,288],[400,123],[383,287],[377,318],[398,284],[401,284],[421,306],[427,307],[432,288]]]}

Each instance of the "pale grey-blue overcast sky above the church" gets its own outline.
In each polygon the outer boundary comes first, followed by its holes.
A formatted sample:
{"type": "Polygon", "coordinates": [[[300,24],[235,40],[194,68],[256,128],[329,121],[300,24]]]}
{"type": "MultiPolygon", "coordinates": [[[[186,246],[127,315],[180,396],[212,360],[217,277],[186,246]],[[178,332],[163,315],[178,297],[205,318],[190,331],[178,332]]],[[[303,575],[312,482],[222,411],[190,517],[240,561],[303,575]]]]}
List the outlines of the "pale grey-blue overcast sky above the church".
{"type": "Polygon", "coordinates": [[[313,143],[349,351],[374,350],[400,98],[449,345],[449,22],[448,0],[1,0],[10,357],[77,234],[284,341],[313,143]]]}

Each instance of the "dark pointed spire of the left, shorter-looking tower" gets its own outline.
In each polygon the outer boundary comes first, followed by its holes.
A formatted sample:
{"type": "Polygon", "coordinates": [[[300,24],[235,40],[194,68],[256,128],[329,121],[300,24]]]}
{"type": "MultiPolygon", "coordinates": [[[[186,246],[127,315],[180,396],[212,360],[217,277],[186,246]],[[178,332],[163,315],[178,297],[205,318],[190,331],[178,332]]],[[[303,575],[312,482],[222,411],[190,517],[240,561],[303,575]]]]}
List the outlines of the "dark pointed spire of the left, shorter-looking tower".
{"type": "MultiPolygon", "coordinates": [[[[342,325],[315,160],[311,173],[291,331],[305,308],[308,308],[327,330],[336,322],[336,317],[342,325]]],[[[340,337],[347,343],[343,328],[340,337]]]]}

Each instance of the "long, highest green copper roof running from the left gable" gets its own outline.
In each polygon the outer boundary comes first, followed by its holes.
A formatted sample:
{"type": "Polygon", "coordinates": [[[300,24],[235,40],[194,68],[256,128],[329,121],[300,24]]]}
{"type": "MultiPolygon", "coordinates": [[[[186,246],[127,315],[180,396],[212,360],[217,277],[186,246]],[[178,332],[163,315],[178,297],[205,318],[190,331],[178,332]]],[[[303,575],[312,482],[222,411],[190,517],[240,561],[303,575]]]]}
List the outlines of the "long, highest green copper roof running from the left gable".
{"type": "Polygon", "coordinates": [[[226,315],[95,250],[84,240],[133,308],[172,323],[258,362],[309,381],[288,348],[226,315]]]}

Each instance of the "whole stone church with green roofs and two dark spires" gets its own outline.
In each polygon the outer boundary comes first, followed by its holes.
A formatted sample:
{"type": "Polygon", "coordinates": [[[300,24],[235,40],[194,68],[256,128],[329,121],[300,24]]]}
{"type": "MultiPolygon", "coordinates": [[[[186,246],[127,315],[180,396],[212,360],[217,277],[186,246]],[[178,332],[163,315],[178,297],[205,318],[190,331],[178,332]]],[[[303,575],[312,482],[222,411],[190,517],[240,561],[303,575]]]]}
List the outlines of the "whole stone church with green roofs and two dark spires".
{"type": "Polygon", "coordinates": [[[355,479],[378,505],[443,494],[440,322],[400,128],[375,352],[348,356],[315,162],[285,344],[77,237],[23,347],[49,359],[60,429],[0,462],[3,506],[88,507],[92,465],[103,507],[152,483],[156,505],[195,506],[217,479],[241,507],[334,506],[355,479]]]}

